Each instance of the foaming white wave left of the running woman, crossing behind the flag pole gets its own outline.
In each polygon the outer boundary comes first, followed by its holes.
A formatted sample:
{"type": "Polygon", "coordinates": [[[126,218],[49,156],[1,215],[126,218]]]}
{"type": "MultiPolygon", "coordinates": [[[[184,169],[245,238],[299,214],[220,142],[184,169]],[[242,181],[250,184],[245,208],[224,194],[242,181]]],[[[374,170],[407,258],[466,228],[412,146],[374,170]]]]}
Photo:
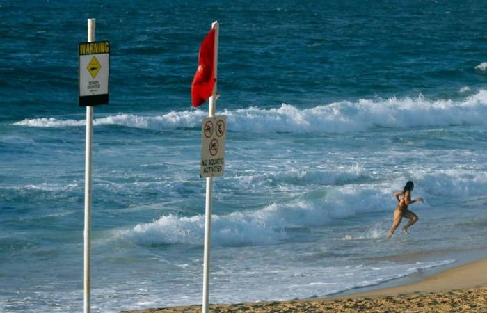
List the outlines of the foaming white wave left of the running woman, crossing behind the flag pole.
{"type": "MultiPolygon", "coordinates": [[[[289,239],[289,229],[318,227],[333,220],[376,211],[387,198],[388,195],[367,189],[330,188],[324,198],[298,199],[273,203],[257,211],[213,215],[212,240],[216,246],[279,243],[289,239]]],[[[122,231],[122,236],[149,246],[172,243],[200,245],[204,229],[204,216],[168,215],[122,231]]]]}

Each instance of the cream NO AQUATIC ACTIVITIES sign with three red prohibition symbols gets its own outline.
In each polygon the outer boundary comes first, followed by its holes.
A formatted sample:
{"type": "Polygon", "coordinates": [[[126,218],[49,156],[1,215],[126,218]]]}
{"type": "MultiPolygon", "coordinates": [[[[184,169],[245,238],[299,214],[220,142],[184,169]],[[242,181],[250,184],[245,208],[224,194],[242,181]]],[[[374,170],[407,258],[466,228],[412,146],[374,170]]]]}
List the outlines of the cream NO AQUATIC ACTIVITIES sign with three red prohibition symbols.
{"type": "Polygon", "coordinates": [[[200,177],[223,175],[225,168],[225,116],[205,118],[202,122],[200,177]]]}

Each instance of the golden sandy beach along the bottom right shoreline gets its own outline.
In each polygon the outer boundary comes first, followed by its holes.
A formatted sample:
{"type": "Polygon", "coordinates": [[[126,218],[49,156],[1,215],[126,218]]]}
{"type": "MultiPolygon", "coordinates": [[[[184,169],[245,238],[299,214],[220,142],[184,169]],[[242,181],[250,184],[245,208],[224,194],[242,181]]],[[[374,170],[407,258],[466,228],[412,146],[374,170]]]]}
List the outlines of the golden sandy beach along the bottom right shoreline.
{"type": "MultiPolygon", "coordinates": [[[[201,312],[200,305],[124,313],[201,312]]],[[[487,259],[420,282],[310,300],[211,305],[210,312],[487,312],[487,259]]]]}

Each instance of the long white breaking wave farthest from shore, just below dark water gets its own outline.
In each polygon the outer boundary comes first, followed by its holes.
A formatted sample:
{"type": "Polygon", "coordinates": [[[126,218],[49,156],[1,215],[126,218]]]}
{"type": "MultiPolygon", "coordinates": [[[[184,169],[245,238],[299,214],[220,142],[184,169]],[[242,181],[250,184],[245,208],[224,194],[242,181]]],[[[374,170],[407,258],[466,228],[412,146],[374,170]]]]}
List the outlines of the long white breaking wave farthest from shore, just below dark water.
{"type": "MultiPolygon", "coordinates": [[[[486,63],[487,64],[487,63],[486,63]]],[[[486,125],[487,90],[469,95],[462,101],[390,98],[335,102],[310,109],[282,104],[277,109],[225,110],[230,131],[251,133],[344,133],[365,131],[374,127],[428,127],[447,125],[486,125]]],[[[143,129],[199,128],[205,112],[201,110],[172,111],[163,115],[138,116],[118,114],[98,118],[95,125],[122,125],[143,129]]],[[[77,127],[84,120],[55,118],[26,119],[15,125],[31,127],[77,127]]]]}

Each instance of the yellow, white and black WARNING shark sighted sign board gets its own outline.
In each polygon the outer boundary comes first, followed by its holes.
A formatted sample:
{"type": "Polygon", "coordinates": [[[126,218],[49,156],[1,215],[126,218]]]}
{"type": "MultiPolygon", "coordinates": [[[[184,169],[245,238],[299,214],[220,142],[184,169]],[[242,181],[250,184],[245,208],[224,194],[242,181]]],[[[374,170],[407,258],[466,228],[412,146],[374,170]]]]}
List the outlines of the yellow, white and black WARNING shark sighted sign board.
{"type": "Polygon", "coordinates": [[[79,44],[79,106],[109,103],[110,43],[79,44]]]}

